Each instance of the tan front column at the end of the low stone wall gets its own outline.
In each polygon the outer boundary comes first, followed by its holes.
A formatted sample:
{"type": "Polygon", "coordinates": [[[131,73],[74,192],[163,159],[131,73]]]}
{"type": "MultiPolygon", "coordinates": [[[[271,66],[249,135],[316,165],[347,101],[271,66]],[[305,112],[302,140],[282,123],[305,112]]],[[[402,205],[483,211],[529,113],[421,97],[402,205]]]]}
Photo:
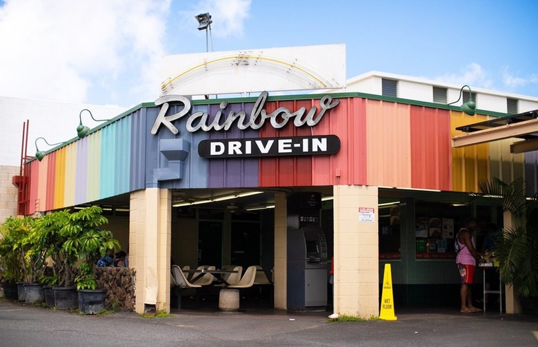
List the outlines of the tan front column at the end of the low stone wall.
{"type": "Polygon", "coordinates": [[[129,266],[137,270],[135,311],[170,312],[171,194],[150,188],[130,196],[129,266]]]}

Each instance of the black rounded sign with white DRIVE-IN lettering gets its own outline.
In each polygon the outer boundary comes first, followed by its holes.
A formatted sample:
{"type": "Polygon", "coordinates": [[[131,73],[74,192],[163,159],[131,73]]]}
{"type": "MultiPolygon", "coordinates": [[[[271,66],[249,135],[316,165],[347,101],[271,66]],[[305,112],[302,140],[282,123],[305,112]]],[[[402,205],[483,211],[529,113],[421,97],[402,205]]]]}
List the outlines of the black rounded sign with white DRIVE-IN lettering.
{"type": "Polygon", "coordinates": [[[202,140],[202,158],[248,158],[263,156],[314,156],[335,154],[340,150],[336,135],[295,136],[289,138],[235,138],[202,140]]]}

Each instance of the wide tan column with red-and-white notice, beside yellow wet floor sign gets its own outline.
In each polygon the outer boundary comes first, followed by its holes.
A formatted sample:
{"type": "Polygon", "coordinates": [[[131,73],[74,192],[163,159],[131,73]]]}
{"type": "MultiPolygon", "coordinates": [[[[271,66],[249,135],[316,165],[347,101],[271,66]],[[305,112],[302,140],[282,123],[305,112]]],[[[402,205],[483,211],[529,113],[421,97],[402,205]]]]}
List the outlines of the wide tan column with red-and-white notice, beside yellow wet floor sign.
{"type": "Polygon", "coordinates": [[[379,316],[377,187],[335,186],[334,312],[379,316]],[[359,207],[374,209],[374,222],[359,222],[359,207]]]}

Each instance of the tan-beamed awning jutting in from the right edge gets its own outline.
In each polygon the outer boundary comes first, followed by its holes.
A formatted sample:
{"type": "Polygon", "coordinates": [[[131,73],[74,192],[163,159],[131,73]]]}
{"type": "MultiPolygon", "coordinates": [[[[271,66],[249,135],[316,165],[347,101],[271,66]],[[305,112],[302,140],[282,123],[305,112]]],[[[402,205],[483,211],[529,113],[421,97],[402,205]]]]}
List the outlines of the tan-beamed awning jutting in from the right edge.
{"type": "Polygon", "coordinates": [[[521,138],[523,141],[510,145],[511,153],[535,151],[538,149],[538,109],[463,125],[456,130],[465,134],[452,138],[452,147],[479,145],[505,138],[521,138]]]}

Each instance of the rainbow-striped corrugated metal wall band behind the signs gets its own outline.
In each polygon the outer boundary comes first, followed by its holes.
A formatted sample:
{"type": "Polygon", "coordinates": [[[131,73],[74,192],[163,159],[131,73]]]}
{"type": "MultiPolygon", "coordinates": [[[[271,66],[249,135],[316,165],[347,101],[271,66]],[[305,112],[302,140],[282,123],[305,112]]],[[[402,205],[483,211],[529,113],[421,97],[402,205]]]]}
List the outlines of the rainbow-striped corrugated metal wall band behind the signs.
{"type": "MultiPolygon", "coordinates": [[[[30,162],[30,208],[48,211],[92,202],[137,189],[155,186],[152,170],[166,164],[159,153],[159,139],[181,137],[190,142],[182,180],[157,182],[162,188],[290,187],[326,185],[375,185],[478,191],[481,179],[512,180],[535,173],[535,154],[510,154],[511,140],[452,149],[455,127],[487,120],[461,112],[345,95],[315,127],[288,124],[274,129],[266,124],[259,131],[237,128],[228,132],[189,133],[186,119],[175,125],[178,136],[150,128],[158,107],[140,107],[110,124],[30,162]],[[206,138],[259,138],[335,134],[341,149],[332,156],[246,159],[201,158],[197,145],[206,138]]],[[[249,114],[252,98],[230,102],[227,110],[249,114]]],[[[268,101],[266,109],[297,110],[319,106],[319,98],[268,101]]],[[[170,113],[177,112],[170,107],[170,113]]],[[[214,115],[218,105],[195,105],[193,112],[214,115]]],[[[535,176],[533,176],[535,177],[535,176]]],[[[534,180],[532,181],[534,182],[534,180]]],[[[531,183],[532,183],[531,182],[531,183]]]]}

